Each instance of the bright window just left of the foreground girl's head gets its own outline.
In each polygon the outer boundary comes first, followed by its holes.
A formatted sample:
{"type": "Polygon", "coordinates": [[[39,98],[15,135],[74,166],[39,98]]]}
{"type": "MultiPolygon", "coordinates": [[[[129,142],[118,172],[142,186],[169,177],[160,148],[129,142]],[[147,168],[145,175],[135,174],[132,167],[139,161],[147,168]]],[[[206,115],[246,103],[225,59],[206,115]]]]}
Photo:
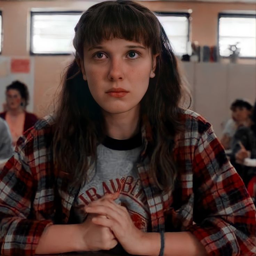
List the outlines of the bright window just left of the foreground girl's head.
{"type": "Polygon", "coordinates": [[[74,27],[82,12],[31,12],[31,54],[71,54],[74,27]]]}

